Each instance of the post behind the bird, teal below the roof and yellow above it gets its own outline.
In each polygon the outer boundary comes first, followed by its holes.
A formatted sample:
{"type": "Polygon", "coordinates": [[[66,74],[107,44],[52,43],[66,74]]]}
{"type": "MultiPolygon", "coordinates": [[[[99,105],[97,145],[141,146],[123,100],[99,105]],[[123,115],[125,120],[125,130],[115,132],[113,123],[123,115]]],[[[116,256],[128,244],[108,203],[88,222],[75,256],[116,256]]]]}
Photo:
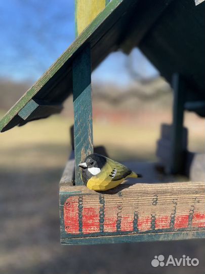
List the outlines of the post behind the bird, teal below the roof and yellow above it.
{"type": "MultiPolygon", "coordinates": [[[[107,0],[75,0],[75,36],[77,37],[108,4],[107,0]]],[[[91,99],[91,49],[87,45],[74,59],[73,107],[75,185],[83,185],[78,164],[93,153],[91,99]]]]}

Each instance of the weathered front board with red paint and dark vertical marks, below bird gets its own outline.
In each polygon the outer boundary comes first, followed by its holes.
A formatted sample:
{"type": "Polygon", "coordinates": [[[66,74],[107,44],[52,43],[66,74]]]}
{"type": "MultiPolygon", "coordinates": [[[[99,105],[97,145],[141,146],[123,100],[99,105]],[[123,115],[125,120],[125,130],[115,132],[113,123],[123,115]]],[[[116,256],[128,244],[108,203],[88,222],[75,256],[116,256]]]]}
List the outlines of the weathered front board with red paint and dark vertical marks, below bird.
{"type": "Polygon", "coordinates": [[[101,193],[85,186],[62,186],[61,242],[95,244],[205,237],[204,190],[202,182],[125,183],[101,193]]]}

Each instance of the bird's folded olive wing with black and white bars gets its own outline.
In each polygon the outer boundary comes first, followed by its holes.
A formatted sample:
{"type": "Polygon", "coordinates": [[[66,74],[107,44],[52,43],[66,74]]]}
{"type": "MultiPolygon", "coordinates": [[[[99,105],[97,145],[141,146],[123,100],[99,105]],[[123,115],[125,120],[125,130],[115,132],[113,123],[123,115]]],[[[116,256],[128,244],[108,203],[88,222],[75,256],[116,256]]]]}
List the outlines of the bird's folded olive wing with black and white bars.
{"type": "Polygon", "coordinates": [[[108,163],[112,169],[109,177],[111,181],[119,181],[121,179],[125,179],[128,175],[132,173],[132,171],[123,164],[115,162],[113,160],[108,160],[108,163]]]}

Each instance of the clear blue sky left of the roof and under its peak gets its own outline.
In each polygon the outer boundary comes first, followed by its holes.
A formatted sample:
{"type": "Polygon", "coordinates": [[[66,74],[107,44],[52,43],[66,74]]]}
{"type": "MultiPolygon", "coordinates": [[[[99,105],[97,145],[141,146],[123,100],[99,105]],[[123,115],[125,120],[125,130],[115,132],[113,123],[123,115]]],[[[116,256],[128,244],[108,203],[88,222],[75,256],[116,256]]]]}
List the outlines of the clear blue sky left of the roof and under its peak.
{"type": "MultiPolygon", "coordinates": [[[[0,77],[35,82],[75,39],[74,0],[7,0],[0,2],[0,77]]],[[[128,63],[139,77],[155,68],[135,49],[131,56],[110,54],[93,72],[93,81],[127,85],[128,63]]]]}

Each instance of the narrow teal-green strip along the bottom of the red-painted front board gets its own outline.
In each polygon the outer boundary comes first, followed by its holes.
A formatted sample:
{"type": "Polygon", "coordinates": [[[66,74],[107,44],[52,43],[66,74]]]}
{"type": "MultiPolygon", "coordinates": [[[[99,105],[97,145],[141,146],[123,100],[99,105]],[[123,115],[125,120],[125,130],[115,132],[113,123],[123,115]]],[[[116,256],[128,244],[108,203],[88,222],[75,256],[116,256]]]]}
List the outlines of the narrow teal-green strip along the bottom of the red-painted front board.
{"type": "Polygon", "coordinates": [[[176,241],[183,239],[205,238],[205,230],[144,233],[136,235],[98,236],[87,238],[61,238],[63,245],[96,245],[96,244],[119,244],[134,242],[153,241],[176,241]]]}

